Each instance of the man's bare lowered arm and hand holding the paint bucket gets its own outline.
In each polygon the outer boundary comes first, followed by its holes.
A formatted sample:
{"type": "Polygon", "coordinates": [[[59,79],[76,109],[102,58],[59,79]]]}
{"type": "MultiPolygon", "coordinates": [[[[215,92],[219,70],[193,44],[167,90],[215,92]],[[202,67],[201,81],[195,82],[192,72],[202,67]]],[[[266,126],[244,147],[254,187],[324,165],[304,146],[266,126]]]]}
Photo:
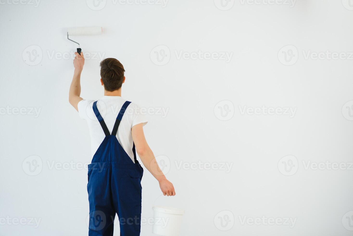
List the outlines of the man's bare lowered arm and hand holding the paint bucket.
{"type": "Polygon", "coordinates": [[[136,146],[136,152],[146,169],[157,179],[164,196],[174,196],[175,190],[159,168],[151,148],[148,146],[143,133],[143,124],[134,125],[131,129],[132,139],[136,146]]]}

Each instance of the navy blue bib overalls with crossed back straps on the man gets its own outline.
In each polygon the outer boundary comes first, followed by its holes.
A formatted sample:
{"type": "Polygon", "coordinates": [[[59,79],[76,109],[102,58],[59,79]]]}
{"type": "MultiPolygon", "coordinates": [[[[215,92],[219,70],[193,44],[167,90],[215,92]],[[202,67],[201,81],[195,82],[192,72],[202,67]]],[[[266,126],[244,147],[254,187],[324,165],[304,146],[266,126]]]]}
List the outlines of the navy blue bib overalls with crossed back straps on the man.
{"type": "Polygon", "coordinates": [[[133,163],[116,138],[121,118],[130,103],[126,101],[122,105],[112,134],[97,109],[97,101],[93,104],[106,137],[88,165],[89,236],[112,236],[115,213],[119,217],[120,236],[140,235],[143,169],[136,160],[135,144],[133,163]]]}

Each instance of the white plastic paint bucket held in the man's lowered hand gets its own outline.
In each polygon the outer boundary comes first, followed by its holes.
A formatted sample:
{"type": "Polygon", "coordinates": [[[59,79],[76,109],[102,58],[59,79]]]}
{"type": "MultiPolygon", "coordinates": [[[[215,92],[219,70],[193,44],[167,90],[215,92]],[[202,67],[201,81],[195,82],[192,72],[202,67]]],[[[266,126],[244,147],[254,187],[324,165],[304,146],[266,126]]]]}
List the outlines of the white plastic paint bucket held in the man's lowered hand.
{"type": "Polygon", "coordinates": [[[179,236],[184,210],[164,206],[153,206],[152,210],[154,219],[153,234],[179,236]]]}

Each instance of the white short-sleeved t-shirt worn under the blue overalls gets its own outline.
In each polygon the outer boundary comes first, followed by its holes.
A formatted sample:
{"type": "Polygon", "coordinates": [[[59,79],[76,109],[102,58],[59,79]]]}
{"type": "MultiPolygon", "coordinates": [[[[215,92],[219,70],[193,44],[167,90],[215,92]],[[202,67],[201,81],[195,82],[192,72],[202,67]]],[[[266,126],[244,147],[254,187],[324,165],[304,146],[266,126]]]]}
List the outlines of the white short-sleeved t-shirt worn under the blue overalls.
{"type": "MultiPolygon", "coordinates": [[[[125,101],[126,100],[120,96],[104,96],[97,101],[98,111],[104,119],[110,134],[112,134],[116,117],[125,101]]],[[[88,123],[91,135],[92,157],[105,137],[102,126],[92,108],[94,102],[95,100],[81,100],[78,103],[78,114],[88,123]]],[[[122,116],[118,132],[116,133],[120,145],[124,148],[132,161],[134,161],[134,157],[132,152],[133,140],[131,136],[131,128],[140,123],[143,123],[143,125],[147,124],[146,117],[141,114],[139,110],[139,107],[131,102],[125,110],[124,116],[122,116]]]]}

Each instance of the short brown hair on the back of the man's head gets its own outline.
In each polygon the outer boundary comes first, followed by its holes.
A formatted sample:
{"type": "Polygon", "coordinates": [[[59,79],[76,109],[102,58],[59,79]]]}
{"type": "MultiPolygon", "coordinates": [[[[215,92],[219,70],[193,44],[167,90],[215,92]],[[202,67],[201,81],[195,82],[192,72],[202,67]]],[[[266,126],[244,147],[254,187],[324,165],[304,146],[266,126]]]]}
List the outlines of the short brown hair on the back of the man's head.
{"type": "Polygon", "coordinates": [[[124,66],[115,58],[106,58],[101,61],[101,78],[104,89],[113,92],[121,88],[124,80],[124,66]]]}

